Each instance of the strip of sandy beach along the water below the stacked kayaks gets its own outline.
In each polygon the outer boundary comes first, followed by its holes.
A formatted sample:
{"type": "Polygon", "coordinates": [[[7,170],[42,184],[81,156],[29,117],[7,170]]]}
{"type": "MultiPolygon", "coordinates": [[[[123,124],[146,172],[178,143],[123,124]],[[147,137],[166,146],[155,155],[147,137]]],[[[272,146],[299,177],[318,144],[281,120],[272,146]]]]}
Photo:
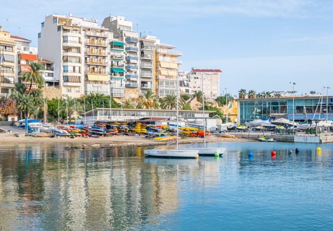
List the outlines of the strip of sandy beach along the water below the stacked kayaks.
{"type": "MultiPolygon", "coordinates": [[[[247,140],[242,138],[231,139],[231,138],[222,138],[222,137],[206,137],[207,143],[212,142],[249,142],[253,140],[247,140]]],[[[80,138],[76,137],[74,139],[59,137],[59,138],[50,138],[50,137],[25,137],[19,136],[16,137],[14,133],[0,133],[0,144],[35,144],[35,143],[68,143],[68,144],[82,144],[82,145],[109,145],[113,147],[123,147],[123,146],[150,146],[150,145],[165,145],[168,141],[158,141],[150,140],[144,138],[143,136],[113,136],[113,137],[100,137],[100,138],[80,138]]],[[[191,143],[203,143],[202,138],[185,138],[180,139],[179,144],[191,144],[191,143]]]]}

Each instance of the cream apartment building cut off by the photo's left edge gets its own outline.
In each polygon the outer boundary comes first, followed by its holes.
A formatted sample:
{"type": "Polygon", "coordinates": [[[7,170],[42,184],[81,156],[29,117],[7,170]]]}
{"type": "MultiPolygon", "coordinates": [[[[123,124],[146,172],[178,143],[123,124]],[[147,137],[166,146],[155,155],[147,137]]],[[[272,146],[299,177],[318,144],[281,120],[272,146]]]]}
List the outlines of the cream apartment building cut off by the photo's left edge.
{"type": "Polygon", "coordinates": [[[16,43],[8,31],[0,26],[0,93],[9,94],[14,90],[16,76],[16,43]]]}

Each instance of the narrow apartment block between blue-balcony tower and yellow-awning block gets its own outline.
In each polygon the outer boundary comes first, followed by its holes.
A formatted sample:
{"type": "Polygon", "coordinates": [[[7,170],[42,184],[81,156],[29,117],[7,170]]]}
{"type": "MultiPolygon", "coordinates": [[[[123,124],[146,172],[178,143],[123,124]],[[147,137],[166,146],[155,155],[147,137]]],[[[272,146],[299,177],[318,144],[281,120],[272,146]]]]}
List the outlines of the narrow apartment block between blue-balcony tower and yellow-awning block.
{"type": "Polygon", "coordinates": [[[139,65],[140,78],[139,87],[140,93],[151,89],[156,93],[156,43],[158,42],[155,36],[146,35],[139,37],[139,65]]]}

